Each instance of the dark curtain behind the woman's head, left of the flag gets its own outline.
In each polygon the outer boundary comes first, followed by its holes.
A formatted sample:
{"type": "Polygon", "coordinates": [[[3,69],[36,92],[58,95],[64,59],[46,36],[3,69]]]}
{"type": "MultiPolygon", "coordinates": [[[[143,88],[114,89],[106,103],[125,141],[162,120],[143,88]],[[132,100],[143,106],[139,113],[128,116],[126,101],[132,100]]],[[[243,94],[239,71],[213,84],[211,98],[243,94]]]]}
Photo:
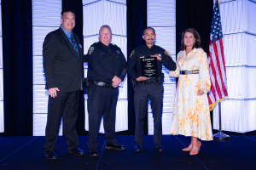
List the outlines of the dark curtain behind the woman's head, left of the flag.
{"type": "Polygon", "coordinates": [[[185,29],[195,28],[201,36],[201,46],[209,52],[213,1],[176,1],[176,53],[180,51],[181,36],[185,29]]]}

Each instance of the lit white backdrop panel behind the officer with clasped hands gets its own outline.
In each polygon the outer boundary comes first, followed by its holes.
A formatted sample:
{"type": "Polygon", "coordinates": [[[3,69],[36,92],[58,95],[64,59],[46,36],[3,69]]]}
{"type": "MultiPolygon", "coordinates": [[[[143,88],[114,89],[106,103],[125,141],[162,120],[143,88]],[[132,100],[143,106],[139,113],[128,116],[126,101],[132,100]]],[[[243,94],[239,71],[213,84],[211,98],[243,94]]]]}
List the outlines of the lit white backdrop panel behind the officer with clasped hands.
{"type": "MultiPolygon", "coordinates": [[[[126,31],[126,1],[125,0],[83,0],[84,8],[84,54],[87,54],[90,45],[98,42],[98,33],[102,25],[112,29],[112,43],[121,48],[127,59],[127,31],[126,31]]],[[[84,63],[84,77],[87,77],[87,64],[84,63]]],[[[115,130],[128,130],[128,100],[127,78],[123,88],[119,88],[119,100],[116,109],[115,130]]],[[[87,94],[84,95],[85,130],[89,130],[87,94]]],[[[99,104],[99,107],[101,104],[99,104]]],[[[104,133],[103,122],[99,130],[104,133]]]]}

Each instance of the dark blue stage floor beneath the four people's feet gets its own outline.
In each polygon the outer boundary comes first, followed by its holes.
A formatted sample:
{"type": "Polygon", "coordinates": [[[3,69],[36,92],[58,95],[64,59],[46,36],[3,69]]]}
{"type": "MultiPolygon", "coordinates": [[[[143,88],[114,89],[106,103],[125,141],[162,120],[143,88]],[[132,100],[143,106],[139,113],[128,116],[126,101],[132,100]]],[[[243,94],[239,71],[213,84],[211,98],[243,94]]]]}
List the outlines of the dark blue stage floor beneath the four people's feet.
{"type": "Polygon", "coordinates": [[[67,154],[66,140],[57,143],[58,160],[44,159],[44,137],[0,137],[0,169],[256,169],[256,135],[232,134],[228,141],[202,142],[198,156],[189,156],[181,149],[189,144],[189,138],[165,135],[164,153],[153,148],[153,136],[144,137],[143,152],[133,150],[134,136],[119,135],[118,142],[125,144],[125,151],[105,150],[104,136],[99,136],[99,157],[90,157],[86,142],[88,136],[79,136],[80,149],[85,156],[67,154]]]}

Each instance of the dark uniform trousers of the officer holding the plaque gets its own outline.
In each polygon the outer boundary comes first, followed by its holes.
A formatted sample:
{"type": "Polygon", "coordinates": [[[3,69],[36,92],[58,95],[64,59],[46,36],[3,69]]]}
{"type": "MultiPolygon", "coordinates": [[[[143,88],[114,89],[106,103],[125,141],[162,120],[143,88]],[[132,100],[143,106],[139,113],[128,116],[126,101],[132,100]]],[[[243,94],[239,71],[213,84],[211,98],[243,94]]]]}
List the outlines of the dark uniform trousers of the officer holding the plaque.
{"type": "Polygon", "coordinates": [[[137,142],[137,144],[143,144],[145,110],[148,105],[148,99],[150,99],[154,117],[154,144],[160,145],[162,143],[163,85],[138,83],[134,90],[134,107],[136,114],[135,142],[137,142]]]}

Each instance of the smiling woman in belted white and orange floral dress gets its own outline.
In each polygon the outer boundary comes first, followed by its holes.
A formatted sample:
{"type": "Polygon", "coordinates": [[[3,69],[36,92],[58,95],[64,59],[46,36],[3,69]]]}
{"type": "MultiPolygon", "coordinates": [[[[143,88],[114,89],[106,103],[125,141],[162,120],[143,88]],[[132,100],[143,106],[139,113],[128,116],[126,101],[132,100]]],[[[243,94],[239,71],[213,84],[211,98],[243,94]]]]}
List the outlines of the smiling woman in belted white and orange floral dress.
{"type": "Polygon", "coordinates": [[[212,140],[212,126],[207,99],[211,88],[209,65],[195,29],[183,31],[177,69],[170,71],[170,76],[178,77],[171,133],[191,136],[191,143],[183,151],[197,155],[201,147],[199,139],[212,140]]]}

